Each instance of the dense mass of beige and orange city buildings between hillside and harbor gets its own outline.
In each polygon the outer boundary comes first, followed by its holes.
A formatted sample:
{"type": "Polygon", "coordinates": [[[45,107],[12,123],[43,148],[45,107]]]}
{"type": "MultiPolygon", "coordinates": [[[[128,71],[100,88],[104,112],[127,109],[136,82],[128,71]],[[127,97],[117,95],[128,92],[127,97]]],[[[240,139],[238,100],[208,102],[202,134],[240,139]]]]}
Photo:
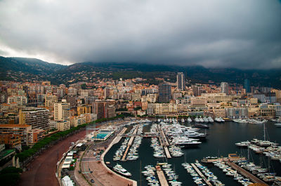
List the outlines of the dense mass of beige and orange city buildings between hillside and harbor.
{"type": "MultiPolygon", "coordinates": [[[[1,81],[1,166],[26,168],[30,158],[50,145],[44,138],[55,133],[88,125],[86,134],[95,131],[92,135],[98,138],[98,124],[103,130],[105,123],[117,119],[119,124],[126,117],[195,121],[195,126],[209,128],[204,122],[263,124],[281,116],[281,91],[251,86],[249,79],[234,87],[227,82],[188,85],[183,72],[178,72],[176,82],[159,79],[163,83],[150,85],[143,80],[103,79],[69,86],[1,81]],[[45,143],[40,146],[41,141],[45,143]]],[[[118,126],[108,124],[113,131],[118,126]]]]}

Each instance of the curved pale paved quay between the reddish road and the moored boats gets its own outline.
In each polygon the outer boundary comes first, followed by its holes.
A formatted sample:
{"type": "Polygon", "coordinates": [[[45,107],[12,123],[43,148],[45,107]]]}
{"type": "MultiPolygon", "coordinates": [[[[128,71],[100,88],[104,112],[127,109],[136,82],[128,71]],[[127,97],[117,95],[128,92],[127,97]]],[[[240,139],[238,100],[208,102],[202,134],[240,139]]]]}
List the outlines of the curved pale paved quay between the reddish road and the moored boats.
{"type": "MultiPolygon", "coordinates": [[[[84,140],[75,142],[74,146],[83,144],[78,147],[77,161],[73,168],[65,167],[65,161],[69,152],[76,151],[69,150],[65,152],[65,159],[62,159],[58,168],[58,180],[61,180],[65,175],[69,175],[76,185],[112,185],[112,186],[135,186],[136,181],[129,178],[125,178],[108,168],[103,157],[110,150],[112,145],[115,145],[122,139],[122,135],[126,131],[126,127],[123,126],[123,122],[115,122],[114,133],[110,133],[105,140],[93,138],[93,133],[85,136],[84,140]],[[94,139],[94,140],[93,140],[94,139]]],[[[106,126],[100,126],[101,130],[105,130],[106,126]]],[[[60,185],[63,185],[60,183],[60,185]]]]}

